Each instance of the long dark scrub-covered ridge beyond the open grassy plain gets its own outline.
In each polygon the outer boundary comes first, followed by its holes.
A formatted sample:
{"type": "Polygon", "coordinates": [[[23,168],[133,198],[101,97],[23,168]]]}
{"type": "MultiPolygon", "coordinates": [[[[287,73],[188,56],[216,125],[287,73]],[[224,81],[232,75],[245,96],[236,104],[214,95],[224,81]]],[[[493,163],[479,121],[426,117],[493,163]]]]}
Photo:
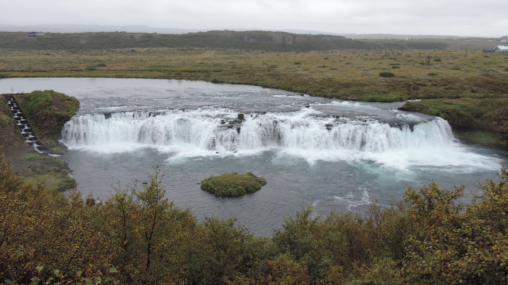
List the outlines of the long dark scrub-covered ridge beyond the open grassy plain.
{"type": "Polygon", "coordinates": [[[0,46],[23,50],[103,50],[122,48],[208,47],[266,51],[371,49],[377,45],[340,35],[295,34],[272,31],[207,31],[186,34],[84,32],[46,33],[29,38],[24,32],[0,32],[0,46]]]}

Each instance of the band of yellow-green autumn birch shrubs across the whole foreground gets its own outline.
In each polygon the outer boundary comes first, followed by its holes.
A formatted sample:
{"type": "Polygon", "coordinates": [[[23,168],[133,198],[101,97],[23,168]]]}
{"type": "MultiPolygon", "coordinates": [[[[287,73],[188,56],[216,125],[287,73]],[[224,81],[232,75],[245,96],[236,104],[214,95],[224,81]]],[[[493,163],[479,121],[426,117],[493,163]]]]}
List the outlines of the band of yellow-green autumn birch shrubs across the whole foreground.
{"type": "Polygon", "coordinates": [[[457,203],[464,187],[407,188],[367,217],[303,206],[272,237],[234,217],[165,198],[158,168],[107,202],[25,184],[0,157],[0,284],[504,284],[508,173],[457,203]]]}

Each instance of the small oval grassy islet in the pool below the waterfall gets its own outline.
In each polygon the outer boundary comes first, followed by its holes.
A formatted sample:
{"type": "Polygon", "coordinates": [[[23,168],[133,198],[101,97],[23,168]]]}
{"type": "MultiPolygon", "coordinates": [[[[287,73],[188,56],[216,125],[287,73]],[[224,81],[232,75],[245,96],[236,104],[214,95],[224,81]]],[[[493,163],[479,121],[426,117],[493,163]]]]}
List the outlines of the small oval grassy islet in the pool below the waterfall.
{"type": "Polygon", "coordinates": [[[258,191],[266,184],[266,180],[252,172],[237,172],[211,176],[201,182],[201,189],[218,196],[238,196],[258,191]]]}

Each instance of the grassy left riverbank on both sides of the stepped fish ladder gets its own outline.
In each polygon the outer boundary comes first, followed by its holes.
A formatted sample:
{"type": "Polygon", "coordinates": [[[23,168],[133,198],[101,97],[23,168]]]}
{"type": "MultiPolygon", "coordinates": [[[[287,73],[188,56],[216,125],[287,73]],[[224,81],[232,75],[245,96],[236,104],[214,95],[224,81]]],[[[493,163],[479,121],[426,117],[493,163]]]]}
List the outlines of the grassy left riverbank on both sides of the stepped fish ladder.
{"type": "MultiPolygon", "coordinates": [[[[79,108],[79,101],[53,90],[18,94],[17,99],[39,139],[51,147],[54,154],[62,152],[63,150],[55,140],[59,137],[63,124],[75,115],[79,108]]],[[[12,117],[8,117],[8,122],[13,122],[12,117]]],[[[35,182],[43,179],[47,181],[45,185],[48,189],[54,188],[59,191],[76,186],[76,181],[68,175],[69,167],[65,161],[36,154],[20,139],[19,131],[13,123],[7,127],[2,130],[1,137],[8,144],[9,140],[14,140],[8,150],[6,148],[7,153],[21,152],[13,157],[18,160],[15,162],[17,165],[15,170],[25,181],[35,182]],[[16,146],[22,148],[16,151],[16,146]]]]}

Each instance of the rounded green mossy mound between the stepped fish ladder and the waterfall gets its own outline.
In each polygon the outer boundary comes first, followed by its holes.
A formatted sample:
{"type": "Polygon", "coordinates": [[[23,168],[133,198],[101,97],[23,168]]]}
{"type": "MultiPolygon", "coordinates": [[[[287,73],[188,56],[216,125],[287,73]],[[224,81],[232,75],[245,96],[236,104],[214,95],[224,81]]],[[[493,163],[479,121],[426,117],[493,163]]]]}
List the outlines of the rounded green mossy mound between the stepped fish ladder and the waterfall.
{"type": "Polygon", "coordinates": [[[58,136],[79,109],[78,99],[53,90],[23,94],[18,100],[37,134],[43,136],[58,136]]]}

